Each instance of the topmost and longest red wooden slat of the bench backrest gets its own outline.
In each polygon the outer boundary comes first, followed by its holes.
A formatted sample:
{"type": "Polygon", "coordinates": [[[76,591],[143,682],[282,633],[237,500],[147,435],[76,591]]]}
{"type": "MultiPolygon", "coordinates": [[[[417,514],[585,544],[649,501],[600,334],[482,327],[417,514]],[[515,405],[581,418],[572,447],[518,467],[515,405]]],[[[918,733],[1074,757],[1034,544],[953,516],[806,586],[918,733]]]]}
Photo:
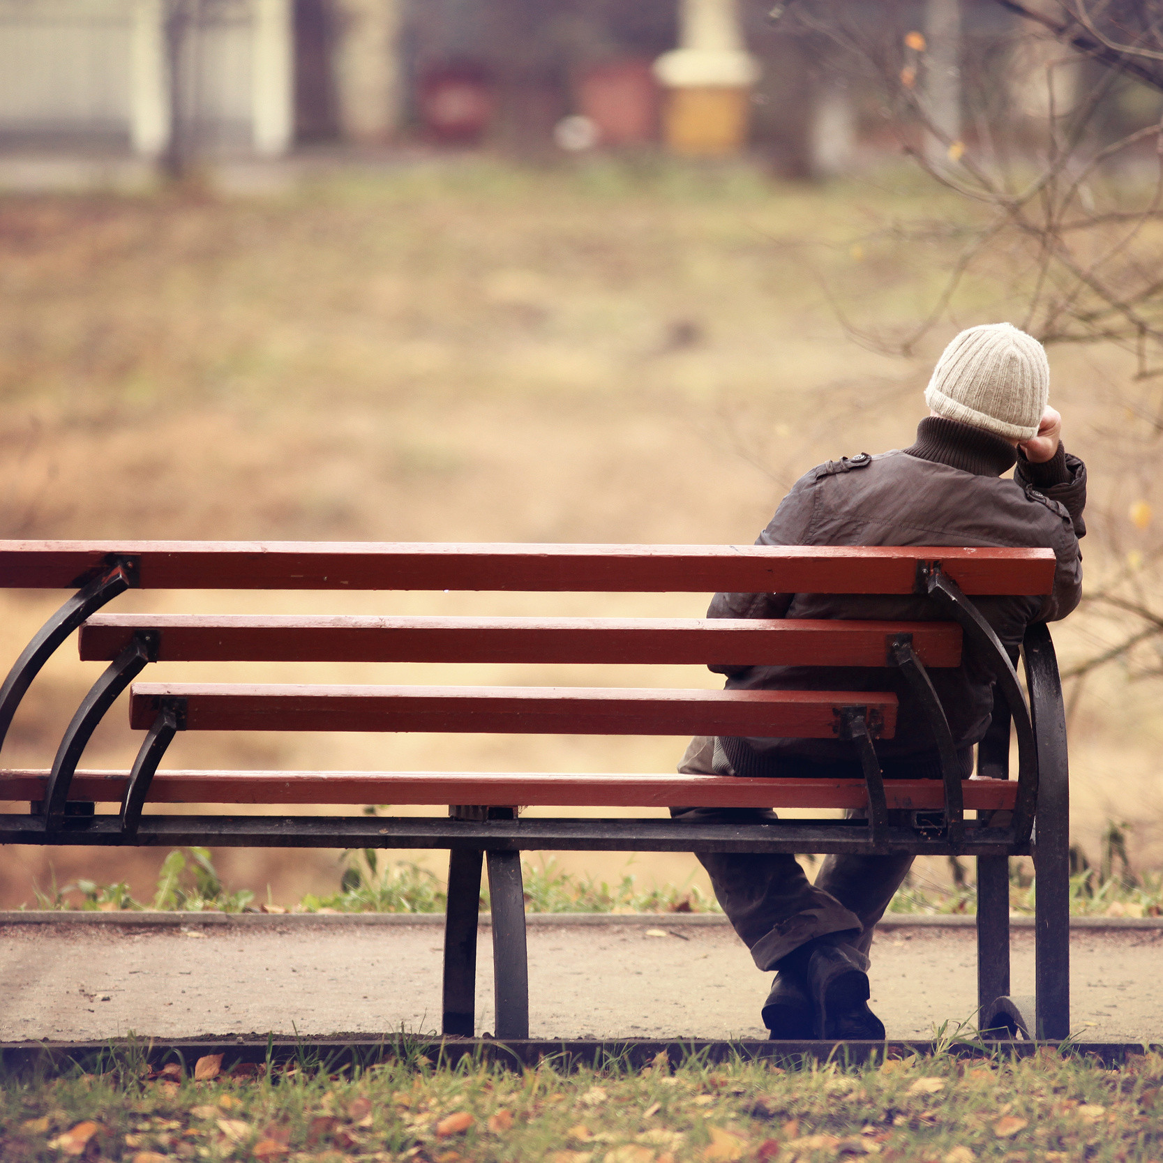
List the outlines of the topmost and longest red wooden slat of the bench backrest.
{"type": "Polygon", "coordinates": [[[1043,594],[1055,565],[1049,549],[5,541],[0,584],[76,587],[110,554],[140,557],[147,590],[901,594],[940,561],[969,594],[1043,594]]]}

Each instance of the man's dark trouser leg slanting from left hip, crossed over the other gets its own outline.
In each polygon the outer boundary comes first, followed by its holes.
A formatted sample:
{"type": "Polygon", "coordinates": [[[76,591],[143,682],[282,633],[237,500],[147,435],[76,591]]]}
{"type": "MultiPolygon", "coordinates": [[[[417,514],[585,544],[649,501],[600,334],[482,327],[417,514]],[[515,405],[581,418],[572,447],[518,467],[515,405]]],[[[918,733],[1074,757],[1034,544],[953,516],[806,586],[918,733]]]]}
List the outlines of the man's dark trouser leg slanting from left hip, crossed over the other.
{"type": "MultiPolygon", "coordinates": [[[[678,770],[683,775],[733,773],[708,737],[691,740],[678,770]]],[[[690,823],[762,823],[776,819],[773,812],[762,808],[673,807],[670,812],[676,820],[690,823]]],[[[825,886],[811,884],[791,854],[697,855],[719,904],[759,969],[776,969],[793,949],[815,937],[849,930],[855,934],[862,928],[852,909],[825,886]]]]}

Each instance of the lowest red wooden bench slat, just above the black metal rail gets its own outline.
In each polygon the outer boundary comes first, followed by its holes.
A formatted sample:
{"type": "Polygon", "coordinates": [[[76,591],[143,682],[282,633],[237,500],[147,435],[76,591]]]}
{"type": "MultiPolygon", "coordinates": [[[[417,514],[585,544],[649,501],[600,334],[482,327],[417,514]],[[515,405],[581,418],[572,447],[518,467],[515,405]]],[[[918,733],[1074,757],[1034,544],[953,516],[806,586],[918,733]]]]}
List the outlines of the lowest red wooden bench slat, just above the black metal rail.
{"type": "MultiPolygon", "coordinates": [[[[40,800],[47,771],[0,771],[0,799],[40,800]]],[[[891,808],[935,811],[939,779],[886,779],[891,808]]],[[[123,771],[78,771],[72,798],[120,801],[123,771]]],[[[1018,784],[968,779],[969,809],[1013,808],[1018,784]]],[[[442,771],[159,771],[152,804],[487,804],[543,807],[855,808],[868,805],[859,779],[739,779],[727,776],[455,773],[442,771]]]]}

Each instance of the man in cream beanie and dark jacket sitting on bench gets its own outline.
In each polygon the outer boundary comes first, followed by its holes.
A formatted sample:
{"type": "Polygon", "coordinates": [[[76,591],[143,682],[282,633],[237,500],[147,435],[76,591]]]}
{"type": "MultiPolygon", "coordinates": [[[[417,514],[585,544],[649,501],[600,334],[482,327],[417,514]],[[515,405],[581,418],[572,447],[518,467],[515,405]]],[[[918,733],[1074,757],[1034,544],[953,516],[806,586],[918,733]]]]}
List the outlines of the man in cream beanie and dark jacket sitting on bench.
{"type": "MultiPolygon", "coordinates": [[[[996,545],[1050,548],[1048,598],[977,598],[1011,655],[1032,622],[1064,618],[1078,604],[1086,470],[1066,455],[1062,418],[1047,404],[1050,369],[1041,343],[1008,323],[962,331],[937,362],[928,419],[906,449],[862,452],[801,477],[761,545],[996,545]],[[1013,479],[1003,478],[1016,463],[1013,479]]],[[[926,620],[925,597],[720,593],[711,618],[926,620]]],[[[896,737],[877,754],[886,778],[940,779],[923,715],[892,668],[712,666],[729,690],[889,690],[900,700],[896,737]]],[[[964,778],[993,708],[991,675],[970,655],[930,675],[964,778]]],[[[685,773],[859,779],[842,740],[694,739],[685,773]]],[[[692,822],[773,819],[758,808],[672,808],[692,822]]],[[[901,813],[907,815],[907,813],[901,813]]],[[[907,820],[894,822],[907,823],[907,820]]],[[[900,886],[911,855],[829,856],[815,884],[791,855],[701,854],[715,896],[761,970],[777,970],[763,1022],[777,1039],[883,1039],[868,1006],[872,930],[900,886]]]]}

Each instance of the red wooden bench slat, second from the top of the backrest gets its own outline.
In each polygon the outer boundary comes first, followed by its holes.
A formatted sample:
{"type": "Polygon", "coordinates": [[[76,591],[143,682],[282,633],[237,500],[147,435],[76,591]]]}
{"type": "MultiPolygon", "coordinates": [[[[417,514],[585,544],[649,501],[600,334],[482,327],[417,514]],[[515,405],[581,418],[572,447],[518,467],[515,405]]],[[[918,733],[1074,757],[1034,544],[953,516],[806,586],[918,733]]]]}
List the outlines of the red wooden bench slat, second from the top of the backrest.
{"type": "Polygon", "coordinates": [[[80,657],[109,661],[160,632],[159,662],[500,662],[885,666],[911,634],[926,666],[961,662],[955,622],[759,619],[298,618],[97,614],[80,657]]]}

